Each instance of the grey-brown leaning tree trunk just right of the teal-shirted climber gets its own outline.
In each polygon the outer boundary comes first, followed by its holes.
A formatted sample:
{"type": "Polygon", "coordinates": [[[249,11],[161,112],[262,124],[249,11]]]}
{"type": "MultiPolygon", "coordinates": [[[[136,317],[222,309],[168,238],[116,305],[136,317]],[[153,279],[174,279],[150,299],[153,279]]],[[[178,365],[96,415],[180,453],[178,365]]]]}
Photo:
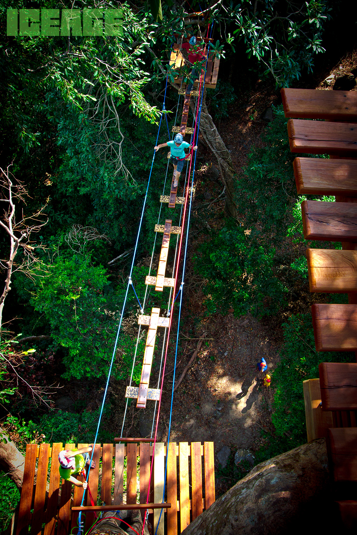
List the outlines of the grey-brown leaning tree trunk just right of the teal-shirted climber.
{"type": "MultiPolygon", "coordinates": [[[[191,101],[190,105],[192,113],[195,117],[195,103],[191,101]]],[[[219,135],[216,125],[208,113],[206,105],[206,89],[204,89],[202,99],[200,131],[202,132],[204,140],[208,144],[209,148],[217,158],[219,171],[221,171],[222,180],[226,187],[227,197],[225,202],[225,212],[227,216],[235,218],[237,215],[237,209],[236,204],[234,203],[235,193],[233,177],[234,174],[236,174],[236,170],[234,169],[230,152],[223,143],[222,137],[219,135]]]]}

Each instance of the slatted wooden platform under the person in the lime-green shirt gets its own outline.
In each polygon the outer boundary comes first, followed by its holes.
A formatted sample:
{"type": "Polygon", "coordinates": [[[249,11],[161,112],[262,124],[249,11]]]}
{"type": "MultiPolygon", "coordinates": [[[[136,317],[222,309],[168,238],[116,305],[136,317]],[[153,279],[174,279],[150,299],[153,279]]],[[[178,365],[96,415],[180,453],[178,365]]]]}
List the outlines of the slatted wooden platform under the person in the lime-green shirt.
{"type": "MultiPolygon", "coordinates": [[[[78,447],[87,446],[79,444],[78,447]]],[[[65,449],[74,448],[66,444],[65,449]]],[[[16,535],[68,535],[77,533],[78,511],[82,488],[60,482],[58,453],[63,444],[29,444],[26,447],[25,475],[22,485],[19,519],[16,535]],[[48,482],[48,467],[51,461],[48,482]],[[35,481],[35,469],[37,477],[35,481]],[[48,490],[47,490],[48,489],[48,490]],[[59,505],[58,496],[60,495],[59,505]],[[33,509],[33,512],[31,512],[33,509]]],[[[166,445],[156,443],[155,452],[149,444],[100,444],[95,446],[93,456],[96,468],[90,470],[89,487],[94,502],[118,506],[125,503],[146,503],[150,473],[150,458],[154,454],[153,477],[151,478],[150,502],[162,502],[166,445]],[[138,460],[139,457],[139,460],[138,460]],[[113,460],[115,462],[113,463],[113,460]],[[99,478],[100,461],[102,475],[99,478]],[[124,477],[125,476],[125,477],[124,477]],[[126,485],[124,484],[126,480],[126,485]]],[[[87,493],[88,494],[88,493],[87,493]]],[[[90,506],[86,494],[85,505],[90,506]]],[[[168,479],[165,501],[171,508],[164,510],[158,534],[177,535],[215,501],[215,472],[213,442],[170,442],[168,447],[168,479]],[[167,498],[167,500],[166,500],[167,498]],[[164,531],[165,526],[165,531],[164,531]]],[[[156,530],[159,509],[149,510],[149,522],[156,530]],[[158,511],[158,513],[157,513],[158,511]],[[156,523],[155,523],[156,522],[156,523]]],[[[86,514],[85,532],[94,522],[92,512],[86,514]]]]}

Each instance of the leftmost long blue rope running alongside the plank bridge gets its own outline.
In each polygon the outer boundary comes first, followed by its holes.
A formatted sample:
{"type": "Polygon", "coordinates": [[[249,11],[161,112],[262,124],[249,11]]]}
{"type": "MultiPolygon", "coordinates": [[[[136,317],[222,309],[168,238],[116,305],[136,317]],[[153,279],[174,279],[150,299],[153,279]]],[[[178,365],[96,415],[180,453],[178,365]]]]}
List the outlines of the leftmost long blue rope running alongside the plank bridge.
{"type": "MultiPolygon", "coordinates": [[[[166,90],[167,90],[167,87],[168,87],[168,76],[166,76],[166,85],[165,85],[165,94],[164,94],[164,103],[163,103],[163,106],[164,106],[164,104],[165,104],[165,98],[166,98],[166,90]]],[[[158,136],[159,136],[159,132],[160,132],[162,116],[163,116],[163,114],[161,113],[160,123],[159,123],[159,126],[158,126],[157,137],[156,137],[156,144],[157,144],[157,140],[158,140],[158,136]]],[[[103,414],[103,409],[104,409],[105,398],[106,398],[106,396],[107,396],[107,391],[108,391],[108,386],[109,386],[109,379],[110,379],[111,370],[112,370],[112,366],[113,366],[113,362],[114,362],[114,358],[115,358],[115,353],[116,353],[116,350],[117,350],[118,339],[119,339],[119,332],[120,332],[121,322],[123,321],[124,309],[125,309],[126,299],[127,299],[127,295],[128,295],[129,286],[130,286],[130,282],[129,282],[129,281],[131,280],[131,276],[132,276],[132,272],[133,272],[133,268],[134,268],[134,261],[135,261],[136,249],[138,248],[139,236],[140,236],[140,231],[141,231],[141,224],[142,224],[142,219],[143,219],[144,210],[145,210],[145,206],[146,206],[146,200],[147,200],[147,196],[148,196],[148,190],[149,190],[150,178],[151,178],[151,173],[152,173],[152,171],[153,171],[154,159],[155,159],[155,150],[154,150],[154,154],[153,154],[153,161],[151,162],[151,168],[150,168],[150,173],[149,173],[148,185],[147,185],[147,188],[146,188],[145,198],[144,198],[143,207],[142,207],[142,211],[141,211],[141,218],[140,218],[140,224],[139,224],[138,235],[136,236],[136,243],[135,243],[135,248],[134,248],[133,261],[132,261],[132,265],[131,265],[131,269],[130,269],[130,274],[129,274],[128,284],[127,284],[127,287],[126,287],[126,292],[125,292],[125,298],[124,298],[123,308],[121,309],[121,315],[120,315],[120,322],[119,322],[119,326],[118,326],[117,337],[116,337],[116,340],[115,340],[115,345],[114,345],[114,349],[113,349],[113,354],[112,354],[112,358],[111,358],[111,362],[110,362],[110,366],[109,366],[109,372],[108,372],[107,384],[105,385],[105,389],[104,389],[103,402],[102,402],[102,407],[101,407],[101,411],[100,411],[100,415],[99,415],[99,419],[98,419],[98,425],[97,425],[97,429],[96,429],[96,433],[95,433],[95,438],[94,438],[94,442],[93,442],[92,455],[90,456],[89,467],[92,465],[92,461],[93,461],[93,455],[94,455],[95,445],[96,445],[96,441],[97,441],[97,437],[98,437],[99,427],[100,427],[100,424],[101,424],[101,419],[102,419],[102,414],[103,414]]],[[[90,472],[90,468],[89,468],[89,467],[88,467],[88,470],[87,470],[87,477],[86,477],[86,481],[87,481],[87,483],[88,483],[89,472],[90,472]]],[[[83,505],[83,501],[84,501],[84,498],[85,498],[85,494],[86,494],[86,493],[83,492],[82,500],[81,500],[81,507],[82,507],[82,505],[83,505]]],[[[81,513],[82,513],[82,511],[79,511],[79,515],[78,515],[78,525],[79,525],[78,535],[80,535],[81,532],[82,532],[81,513]]]]}

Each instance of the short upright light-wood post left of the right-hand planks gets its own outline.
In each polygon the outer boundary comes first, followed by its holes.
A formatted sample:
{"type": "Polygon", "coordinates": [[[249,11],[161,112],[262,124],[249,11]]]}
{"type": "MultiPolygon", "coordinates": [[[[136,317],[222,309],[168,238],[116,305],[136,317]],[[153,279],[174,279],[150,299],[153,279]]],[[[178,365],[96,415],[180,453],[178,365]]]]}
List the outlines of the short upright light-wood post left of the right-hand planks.
{"type": "Polygon", "coordinates": [[[320,405],[320,380],[303,381],[303,401],[305,403],[307,441],[325,438],[326,429],[333,426],[332,412],[323,411],[320,405]]]}

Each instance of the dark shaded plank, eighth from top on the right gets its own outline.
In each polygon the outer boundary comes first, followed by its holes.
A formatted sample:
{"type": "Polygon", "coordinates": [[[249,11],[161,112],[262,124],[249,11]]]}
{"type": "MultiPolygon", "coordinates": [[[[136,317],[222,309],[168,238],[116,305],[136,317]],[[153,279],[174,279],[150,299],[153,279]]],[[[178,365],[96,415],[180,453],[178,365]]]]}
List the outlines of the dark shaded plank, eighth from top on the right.
{"type": "Polygon", "coordinates": [[[335,482],[357,482],[357,428],[329,429],[326,445],[335,482]]]}

